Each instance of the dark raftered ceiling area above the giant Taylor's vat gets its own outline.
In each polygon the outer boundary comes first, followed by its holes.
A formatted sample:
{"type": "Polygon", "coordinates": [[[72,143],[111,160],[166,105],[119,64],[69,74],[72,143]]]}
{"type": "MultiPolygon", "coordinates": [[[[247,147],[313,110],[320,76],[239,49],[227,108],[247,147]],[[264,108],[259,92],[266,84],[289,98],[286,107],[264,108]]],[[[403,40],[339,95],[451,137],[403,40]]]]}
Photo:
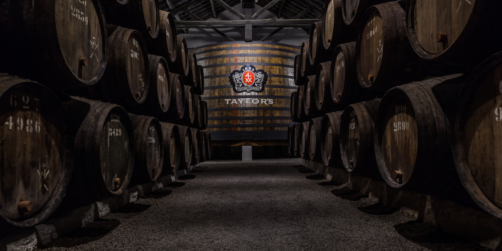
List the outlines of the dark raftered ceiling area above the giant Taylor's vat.
{"type": "MultiPolygon", "coordinates": [[[[244,10],[241,9],[240,0],[223,0],[223,2],[232,7],[232,9],[236,12],[244,14],[244,10]]],[[[255,9],[252,11],[253,14],[271,2],[272,0],[258,0],[255,9]]],[[[277,3],[271,8],[267,9],[260,16],[258,16],[257,19],[272,18],[284,20],[292,18],[322,18],[321,14],[324,7],[324,0],[283,0],[276,2],[277,3]],[[279,11],[281,12],[280,18],[278,18],[279,11]]],[[[173,13],[175,15],[175,20],[178,21],[240,20],[239,17],[223,8],[217,3],[217,1],[213,2],[213,7],[217,13],[216,19],[214,18],[209,0],[159,0],[159,8],[173,13]],[[188,12],[184,10],[187,10],[188,12]],[[194,16],[196,18],[194,18],[194,16]]],[[[235,41],[244,41],[243,27],[219,28],[219,30],[220,31],[213,29],[190,28],[183,30],[177,29],[177,33],[178,36],[185,37],[187,39],[187,45],[189,48],[195,48],[212,43],[228,42],[228,38],[223,37],[221,33],[224,33],[225,36],[228,36],[235,41]],[[218,32],[220,34],[218,34],[218,32]]],[[[299,46],[303,41],[309,40],[309,35],[307,33],[309,29],[307,28],[281,28],[278,32],[275,30],[276,28],[253,27],[253,41],[267,41],[299,46]],[[277,32],[277,34],[274,32],[277,32]],[[269,35],[271,33],[274,35],[269,35]]]]}

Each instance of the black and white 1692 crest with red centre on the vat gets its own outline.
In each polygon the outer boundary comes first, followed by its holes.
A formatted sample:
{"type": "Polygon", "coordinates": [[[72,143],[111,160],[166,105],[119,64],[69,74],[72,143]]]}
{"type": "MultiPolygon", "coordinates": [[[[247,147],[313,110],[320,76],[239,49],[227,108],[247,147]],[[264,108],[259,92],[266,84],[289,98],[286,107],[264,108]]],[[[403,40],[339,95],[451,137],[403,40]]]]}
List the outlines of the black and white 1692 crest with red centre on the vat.
{"type": "Polygon", "coordinates": [[[240,71],[232,71],[228,78],[232,84],[233,91],[239,93],[244,91],[264,91],[268,77],[267,72],[264,70],[257,70],[255,66],[246,64],[240,67],[240,71]]]}

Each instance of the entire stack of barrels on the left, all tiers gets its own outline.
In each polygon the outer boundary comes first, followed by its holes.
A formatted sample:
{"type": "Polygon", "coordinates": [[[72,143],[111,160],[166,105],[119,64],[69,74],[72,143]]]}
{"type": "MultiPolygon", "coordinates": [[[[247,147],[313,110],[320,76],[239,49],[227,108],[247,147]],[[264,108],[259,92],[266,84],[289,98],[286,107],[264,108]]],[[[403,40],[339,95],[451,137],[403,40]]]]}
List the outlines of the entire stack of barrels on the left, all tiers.
{"type": "Polygon", "coordinates": [[[203,72],[158,1],[0,14],[0,234],[209,159],[203,72]]]}

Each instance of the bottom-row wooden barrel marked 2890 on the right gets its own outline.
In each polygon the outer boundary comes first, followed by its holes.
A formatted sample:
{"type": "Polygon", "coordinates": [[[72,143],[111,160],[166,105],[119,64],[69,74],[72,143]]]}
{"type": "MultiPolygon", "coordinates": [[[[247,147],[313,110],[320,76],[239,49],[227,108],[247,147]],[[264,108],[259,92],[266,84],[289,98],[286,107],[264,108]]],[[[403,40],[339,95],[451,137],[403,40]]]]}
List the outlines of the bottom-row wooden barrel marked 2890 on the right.
{"type": "Polygon", "coordinates": [[[390,89],[374,124],[374,152],[391,187],[435,196],[460,185],[451,152],[451,117],[465,78],[435,77],[390,89]]]}

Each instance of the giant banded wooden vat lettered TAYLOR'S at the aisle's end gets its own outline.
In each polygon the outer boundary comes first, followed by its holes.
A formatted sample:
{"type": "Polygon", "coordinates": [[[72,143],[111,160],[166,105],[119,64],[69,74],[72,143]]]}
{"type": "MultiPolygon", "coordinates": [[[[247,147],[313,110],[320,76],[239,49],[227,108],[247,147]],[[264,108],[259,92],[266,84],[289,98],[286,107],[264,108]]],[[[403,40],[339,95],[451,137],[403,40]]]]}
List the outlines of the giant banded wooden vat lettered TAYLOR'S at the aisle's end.
{"type": "Polygon", "coordinates": [[[284,140],[284,145],[287,144],[290,97],[298,88],[293,79],[294,59],[300,54],[300,47],[271,42],[227,42],[190,51],[197,55],[197,63],[204,68],[202,100],[207,102],[206,131],[211,132],[212,140],[284,140]],[[262,92],[235,92],[232,87],[230,73],[248,64],[253,65],[256,72],[267,73],[264,78],[267,81],[262,82],[264,89],[259,90],[262,92]]]}

